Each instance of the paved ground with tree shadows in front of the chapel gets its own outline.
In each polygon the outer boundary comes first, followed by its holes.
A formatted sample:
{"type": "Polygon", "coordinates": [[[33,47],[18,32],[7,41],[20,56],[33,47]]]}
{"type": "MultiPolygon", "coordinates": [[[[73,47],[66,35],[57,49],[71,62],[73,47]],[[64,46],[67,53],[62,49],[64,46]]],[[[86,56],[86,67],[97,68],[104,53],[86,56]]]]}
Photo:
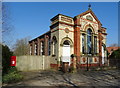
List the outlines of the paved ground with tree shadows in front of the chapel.
{"type": "Polygon", "coordinates": [[[5,86],[117,86],[120,87],[120,71],[78,71],[63,73],[61,71],[23,72],[24,80],[5,86]]]}

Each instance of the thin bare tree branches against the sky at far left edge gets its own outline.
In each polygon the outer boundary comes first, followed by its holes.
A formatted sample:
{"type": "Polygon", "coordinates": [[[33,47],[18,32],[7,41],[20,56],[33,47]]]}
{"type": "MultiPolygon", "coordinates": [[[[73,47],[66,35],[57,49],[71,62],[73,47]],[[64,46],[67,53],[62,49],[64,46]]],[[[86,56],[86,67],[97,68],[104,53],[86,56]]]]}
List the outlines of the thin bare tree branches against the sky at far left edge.
{"type": "Polygon", "coordinates": [[[10,6],[8,6],[6,3],[2,3],[2,43],[6,45],[10,45],[13,41],[11,39],[11,31],[14,29],[14,26],[12,25],[12,19],[10,14],[10,6]]]}

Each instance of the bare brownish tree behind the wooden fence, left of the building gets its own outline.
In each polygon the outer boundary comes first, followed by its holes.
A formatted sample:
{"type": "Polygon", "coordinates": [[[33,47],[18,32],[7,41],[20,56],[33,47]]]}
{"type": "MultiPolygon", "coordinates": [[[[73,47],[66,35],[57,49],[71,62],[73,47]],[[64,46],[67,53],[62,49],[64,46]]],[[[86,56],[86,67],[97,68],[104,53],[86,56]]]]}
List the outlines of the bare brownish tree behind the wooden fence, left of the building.
{"type": "Polygon", "coordinates": [[[29,46],[28,41],[30,37],[25,37],[23,39],[17,40],[14,47],[14,54],[17,56],[28,55],[29,46]]]}

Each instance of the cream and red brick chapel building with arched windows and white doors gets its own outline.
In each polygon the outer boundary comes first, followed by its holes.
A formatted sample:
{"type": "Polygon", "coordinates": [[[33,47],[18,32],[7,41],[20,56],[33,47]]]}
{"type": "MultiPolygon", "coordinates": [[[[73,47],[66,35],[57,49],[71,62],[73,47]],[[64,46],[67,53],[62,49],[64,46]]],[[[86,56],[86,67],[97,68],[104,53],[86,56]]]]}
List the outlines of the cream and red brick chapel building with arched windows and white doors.
{"type": "Polygon", "coordinates": [[[71,54],[80,66],[102,66],[107,64],[106,35],[90,7],[75,17],[58,14],[48,32],[29,41],[29,53],[50,56],[51,67],[60,67],[62,62],[70,65],[71,54]]]}

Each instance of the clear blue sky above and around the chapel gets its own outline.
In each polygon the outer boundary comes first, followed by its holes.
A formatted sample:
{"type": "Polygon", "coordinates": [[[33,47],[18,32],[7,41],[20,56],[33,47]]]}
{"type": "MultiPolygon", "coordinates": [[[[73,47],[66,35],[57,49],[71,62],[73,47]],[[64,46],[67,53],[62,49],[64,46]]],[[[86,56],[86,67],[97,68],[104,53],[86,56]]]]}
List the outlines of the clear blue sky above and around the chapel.
{"type": "MultiPolygon", "coordinates": [[[[88,10],[88,2],[9,2],[13,30],[16,39],[30,36],[31,39],[47,32],[50,19],[57,14],[74,17],[88,10]]],[[[90,2],[92,10],[107,28],[107,46],[118,44],[118,3],[90,2]]]]}

